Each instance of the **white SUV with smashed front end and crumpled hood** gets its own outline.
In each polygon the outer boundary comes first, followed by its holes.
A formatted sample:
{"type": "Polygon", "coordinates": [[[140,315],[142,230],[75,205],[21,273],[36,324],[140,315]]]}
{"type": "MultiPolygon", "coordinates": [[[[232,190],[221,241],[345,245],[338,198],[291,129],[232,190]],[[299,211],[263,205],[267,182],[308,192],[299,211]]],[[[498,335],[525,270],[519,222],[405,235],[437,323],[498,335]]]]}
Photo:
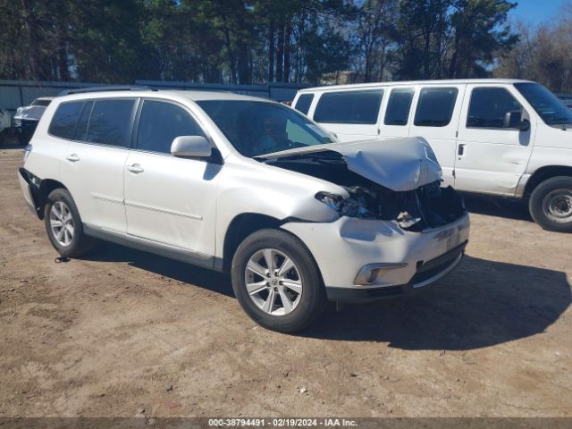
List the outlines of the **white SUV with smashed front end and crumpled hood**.
{"type": "Polygon", "coordinates": [[[96,238],[230,272],[250,317],[294,332],[458,265],[468,215],[441,174],[424,139],[337,143],[269,100],[139,88],[55,98],[20,181],[63,257],[96,238]]]}

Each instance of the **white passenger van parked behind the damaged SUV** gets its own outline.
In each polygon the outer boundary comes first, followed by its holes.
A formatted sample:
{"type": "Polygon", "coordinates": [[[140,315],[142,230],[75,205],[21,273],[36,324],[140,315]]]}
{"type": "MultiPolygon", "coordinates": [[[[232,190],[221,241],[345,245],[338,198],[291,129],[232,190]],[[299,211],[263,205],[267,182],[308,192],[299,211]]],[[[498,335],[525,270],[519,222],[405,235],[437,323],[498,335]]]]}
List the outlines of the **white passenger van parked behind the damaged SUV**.
{"type": "Polygon", "coordinates": [[[527,80],[307,88],[292,105],[341,141],[422,136],[456,189],[527,198],[543,228],[572,231],[572,111],[527,80]]]}

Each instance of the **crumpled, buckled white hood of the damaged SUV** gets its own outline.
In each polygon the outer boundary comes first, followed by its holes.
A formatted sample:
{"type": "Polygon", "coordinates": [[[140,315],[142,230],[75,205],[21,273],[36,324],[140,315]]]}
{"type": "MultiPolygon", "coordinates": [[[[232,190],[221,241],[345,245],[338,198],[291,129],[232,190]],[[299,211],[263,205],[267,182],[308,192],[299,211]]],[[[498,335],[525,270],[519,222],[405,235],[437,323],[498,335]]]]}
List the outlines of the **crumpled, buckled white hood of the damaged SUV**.
{"type": "Polygon", "coordinates": [[[324,151],[341,154],[351,172],[395,191],[417,189],[442,178],[441,165],[432,148],[421,137],[331,143],[283,150],[261,157],[315,156],[324,151]]]}

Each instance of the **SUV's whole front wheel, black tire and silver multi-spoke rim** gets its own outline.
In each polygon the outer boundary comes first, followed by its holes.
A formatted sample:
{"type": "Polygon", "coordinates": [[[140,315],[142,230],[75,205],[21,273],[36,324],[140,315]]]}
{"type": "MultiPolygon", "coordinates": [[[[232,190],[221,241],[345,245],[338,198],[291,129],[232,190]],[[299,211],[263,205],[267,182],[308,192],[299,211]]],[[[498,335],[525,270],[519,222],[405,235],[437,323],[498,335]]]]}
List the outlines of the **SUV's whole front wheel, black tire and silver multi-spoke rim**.
{"type": "Polygon", "coordinates": [[[324,308],[325,290],[314,257],[289,232],[250,234],[232,258],[231,277],[240,307],[273,331],[299,331],[324,308]]]}

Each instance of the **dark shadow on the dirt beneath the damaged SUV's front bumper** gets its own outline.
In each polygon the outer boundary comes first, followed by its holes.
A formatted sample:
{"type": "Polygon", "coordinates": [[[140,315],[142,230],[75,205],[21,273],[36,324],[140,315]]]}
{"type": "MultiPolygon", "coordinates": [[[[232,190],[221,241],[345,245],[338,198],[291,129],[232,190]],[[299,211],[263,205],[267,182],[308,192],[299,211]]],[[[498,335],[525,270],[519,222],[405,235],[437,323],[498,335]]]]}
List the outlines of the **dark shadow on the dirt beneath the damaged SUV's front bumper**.
{"type": "Polygon", "coordinates": [[[544,332],[570,305],[566,273],[466,257],[405,299],[330,309],[307,337],[382,341],[399,349],[479,349],[544,332]]]}

